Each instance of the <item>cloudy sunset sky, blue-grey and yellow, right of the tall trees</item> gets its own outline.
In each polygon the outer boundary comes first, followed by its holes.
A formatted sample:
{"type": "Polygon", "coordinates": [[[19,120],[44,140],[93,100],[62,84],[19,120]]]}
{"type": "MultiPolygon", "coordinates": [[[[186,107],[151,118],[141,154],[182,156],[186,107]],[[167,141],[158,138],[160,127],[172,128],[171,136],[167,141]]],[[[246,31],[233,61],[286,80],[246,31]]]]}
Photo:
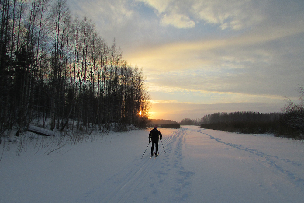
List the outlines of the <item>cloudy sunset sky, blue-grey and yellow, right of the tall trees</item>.
{"type": "Polygon", "coordinates": [[[303,0],[67,0],[143,69],[151,118],[281,112],[304,85],[303,0]]]}

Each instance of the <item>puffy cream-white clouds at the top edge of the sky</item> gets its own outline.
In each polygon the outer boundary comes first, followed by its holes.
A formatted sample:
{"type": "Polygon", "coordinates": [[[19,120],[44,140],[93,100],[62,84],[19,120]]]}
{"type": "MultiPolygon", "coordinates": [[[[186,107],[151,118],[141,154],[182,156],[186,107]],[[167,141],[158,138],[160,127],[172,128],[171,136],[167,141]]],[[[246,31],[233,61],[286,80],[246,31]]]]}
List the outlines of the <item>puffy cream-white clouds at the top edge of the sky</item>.
{"type": "Polygon", "coordinates": [[[263,20],[255,1],[251,0],[137,0],[152,7],[160,17],[161,25],[176,28],[193,28],[195,21],[218,25],[221,29],[247,29],[263,20]]]}

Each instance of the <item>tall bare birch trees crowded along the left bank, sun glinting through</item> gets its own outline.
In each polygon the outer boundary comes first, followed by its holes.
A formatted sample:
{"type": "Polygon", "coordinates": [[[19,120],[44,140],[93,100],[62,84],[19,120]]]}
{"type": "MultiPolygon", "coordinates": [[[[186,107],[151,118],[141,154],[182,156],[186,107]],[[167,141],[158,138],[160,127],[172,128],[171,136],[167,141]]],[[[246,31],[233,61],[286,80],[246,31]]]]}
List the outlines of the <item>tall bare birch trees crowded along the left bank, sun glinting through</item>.
{"type": "Polygon", "coordinates": [[[142,70],[65,0],[0,0],[0,19],[0,135],[34,119],[51,130],[147,122],[142,70]]]}

